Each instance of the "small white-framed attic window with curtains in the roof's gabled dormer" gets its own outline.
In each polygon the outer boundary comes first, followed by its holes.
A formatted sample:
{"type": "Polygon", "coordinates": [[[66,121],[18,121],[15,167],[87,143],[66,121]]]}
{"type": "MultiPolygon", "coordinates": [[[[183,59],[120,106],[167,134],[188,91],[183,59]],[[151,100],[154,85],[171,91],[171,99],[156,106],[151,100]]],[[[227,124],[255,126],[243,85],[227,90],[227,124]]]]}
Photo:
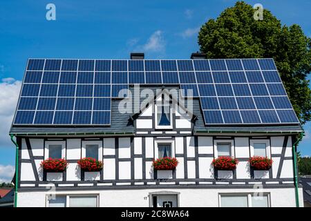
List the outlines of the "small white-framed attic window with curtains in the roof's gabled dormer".
{"type": "Polygon", "coordinates": [[[156,106],[156,128],[172,128],[172,114],[169,104],[156,106]]]}

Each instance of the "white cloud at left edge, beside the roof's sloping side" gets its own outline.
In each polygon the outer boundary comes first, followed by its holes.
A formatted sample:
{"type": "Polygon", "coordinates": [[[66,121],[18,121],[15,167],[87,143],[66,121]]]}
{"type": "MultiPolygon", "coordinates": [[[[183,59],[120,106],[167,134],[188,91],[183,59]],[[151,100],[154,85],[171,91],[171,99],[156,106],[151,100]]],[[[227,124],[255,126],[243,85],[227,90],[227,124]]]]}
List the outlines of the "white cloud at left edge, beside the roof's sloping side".
{"type": "Polygon", "coordinates": [[[21,81],[11,77],[2,79],[0,83],[0,148],[13,145],[8,133],[17,106],[20,88],[21,81]]]}

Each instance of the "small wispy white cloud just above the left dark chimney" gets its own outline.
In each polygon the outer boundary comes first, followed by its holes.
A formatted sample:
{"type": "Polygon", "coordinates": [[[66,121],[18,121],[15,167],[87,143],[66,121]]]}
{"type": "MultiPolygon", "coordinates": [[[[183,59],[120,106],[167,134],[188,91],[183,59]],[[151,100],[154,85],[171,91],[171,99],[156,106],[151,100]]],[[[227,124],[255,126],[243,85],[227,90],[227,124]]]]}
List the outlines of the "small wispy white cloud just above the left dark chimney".
{"type": "Polygon", "coordinates": [[[163,38],[163,32],[156,30],[151,37],[147,40],[146,44],[136,47],[136,50],[142,50],[142,52],[164,52],[165,41],[163,38]]]}

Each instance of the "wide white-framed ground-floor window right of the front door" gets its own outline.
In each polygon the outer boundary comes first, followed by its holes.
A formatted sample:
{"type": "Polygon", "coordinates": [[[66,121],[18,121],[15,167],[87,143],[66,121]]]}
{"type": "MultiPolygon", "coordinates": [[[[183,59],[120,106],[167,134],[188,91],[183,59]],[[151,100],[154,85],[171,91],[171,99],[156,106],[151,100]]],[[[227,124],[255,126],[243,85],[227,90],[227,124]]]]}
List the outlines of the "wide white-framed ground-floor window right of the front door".
{"type": "Polygon", "coordinates": [[[244,193],[244,194],[220,194],[220,207],[269,207],[269,194],[244,193]]]}

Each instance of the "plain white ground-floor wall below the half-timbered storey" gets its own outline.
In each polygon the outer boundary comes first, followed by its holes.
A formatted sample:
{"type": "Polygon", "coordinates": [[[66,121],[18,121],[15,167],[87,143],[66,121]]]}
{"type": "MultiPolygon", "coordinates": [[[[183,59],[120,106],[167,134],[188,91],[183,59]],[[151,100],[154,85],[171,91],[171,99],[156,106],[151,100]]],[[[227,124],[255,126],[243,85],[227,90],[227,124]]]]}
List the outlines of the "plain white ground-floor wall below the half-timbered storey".
{"type": "MultiPolygon", "coordinates": [[[[173,191],[180,193],[179,206],[217,207],[220,193],[254,193],[252,189],[120,189],[99,191],[57,191],[57,194],[99,195],[100,206],[149,206],[149,193],[156,191],[173,191]]],[[[262,193],[269,193],[272,207],[295,206],[294,188],[263,189],[262,193]]],[[[53,191],[32,191],[18,193],[18,206],[46,206],[46,195],[53,191]],[[31,202],[31,203],[30,203],[31,202]]],[[[302,189],[299,189],[299,202],[303,206],[302,189]]]]}

